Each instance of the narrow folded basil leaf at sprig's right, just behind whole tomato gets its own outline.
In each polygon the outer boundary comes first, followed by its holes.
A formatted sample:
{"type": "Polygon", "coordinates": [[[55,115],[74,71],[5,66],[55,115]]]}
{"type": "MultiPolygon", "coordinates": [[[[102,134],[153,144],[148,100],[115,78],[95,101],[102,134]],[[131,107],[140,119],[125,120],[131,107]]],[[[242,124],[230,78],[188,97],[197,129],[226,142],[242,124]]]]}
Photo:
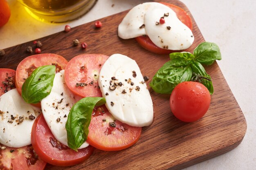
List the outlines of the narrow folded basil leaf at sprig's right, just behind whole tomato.
{"type": "MultiPolygon", "coordinates": [[[[199,62],[193,62],[191,64],[191,68],[192,71],[194,73],[200,74],[201,76],[207,77],[211,79],[211,76],[209,74],[206,73],[206,71],[204,70],[204,67],[202,66],[202,64],[200,64],[199,62]]],[[[201,82],[205,87],[207,87],[207,89],[209,90],[210,94],[213,94],[213,84],[211,81],[202,79],[201,82]]]]}

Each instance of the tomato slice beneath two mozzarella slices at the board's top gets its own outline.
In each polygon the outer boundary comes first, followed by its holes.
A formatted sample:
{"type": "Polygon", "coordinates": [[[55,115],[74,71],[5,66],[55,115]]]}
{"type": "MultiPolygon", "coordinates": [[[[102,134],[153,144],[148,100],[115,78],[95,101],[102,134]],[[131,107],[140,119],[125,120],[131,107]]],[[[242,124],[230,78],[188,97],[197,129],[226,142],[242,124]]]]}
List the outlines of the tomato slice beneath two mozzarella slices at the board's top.
{"type": "MultiPolygon", "coordinates": [[[[160,2],[160,3],[166,5],[167,7],[170,7],[177,14],[177,17],[179,18],[179,20],[192,30],[191,17],[188,15],[188,13],[186,13],[186,11],[184,11],[184,9],[166,2],[160,2]]],[[[145,48],[150,52],[154,52],[156,54],[170,54],[172,52],[177,52],[177,50],[166,50],[156,46],[148,36],[140,36],[140,37],[136,37],[135,39],[139,43],[139,45],[141,45],[143,48],[145,48]]]]}

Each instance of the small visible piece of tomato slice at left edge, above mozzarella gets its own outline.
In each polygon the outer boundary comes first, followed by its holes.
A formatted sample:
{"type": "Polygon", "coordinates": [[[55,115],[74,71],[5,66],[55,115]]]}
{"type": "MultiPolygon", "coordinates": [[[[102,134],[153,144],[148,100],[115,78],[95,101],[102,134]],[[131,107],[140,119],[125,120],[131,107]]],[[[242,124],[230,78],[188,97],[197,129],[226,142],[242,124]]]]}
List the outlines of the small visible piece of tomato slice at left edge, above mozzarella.
{"type": "Polygon", "coordinates": [[[9,68],[0,68],[0,96],[15,88],[15,70],[9,68]]]}

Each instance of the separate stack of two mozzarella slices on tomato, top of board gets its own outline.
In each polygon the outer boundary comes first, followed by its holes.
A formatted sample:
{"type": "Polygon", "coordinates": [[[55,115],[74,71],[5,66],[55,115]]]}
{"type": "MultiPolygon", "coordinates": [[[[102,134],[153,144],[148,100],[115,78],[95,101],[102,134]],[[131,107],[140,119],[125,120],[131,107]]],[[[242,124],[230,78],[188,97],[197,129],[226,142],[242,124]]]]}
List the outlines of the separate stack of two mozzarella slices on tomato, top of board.
{"type": "Polygon", "coordinates": [[[187,49],[194,41],[186,11],[164,2],[146,2],[132,8],[119,24],[118,36],[135,38],[143,48],[157,54],[187,49]]]}

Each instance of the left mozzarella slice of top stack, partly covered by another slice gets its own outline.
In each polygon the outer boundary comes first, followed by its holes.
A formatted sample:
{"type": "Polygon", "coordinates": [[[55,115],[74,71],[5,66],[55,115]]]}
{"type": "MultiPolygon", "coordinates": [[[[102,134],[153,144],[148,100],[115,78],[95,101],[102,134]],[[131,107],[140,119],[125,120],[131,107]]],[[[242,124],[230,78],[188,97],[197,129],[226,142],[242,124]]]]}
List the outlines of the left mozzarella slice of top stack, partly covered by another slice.
{"type": "Polygon", "coordinates": [[[119,24],[118,36],[122,39],[130,39],[146,35],[145,28],[142,26],[145,24],[144,15],[146,11],[161,7],[166,6],[157,2],[146,2],[133,7],[119,24]]]}

